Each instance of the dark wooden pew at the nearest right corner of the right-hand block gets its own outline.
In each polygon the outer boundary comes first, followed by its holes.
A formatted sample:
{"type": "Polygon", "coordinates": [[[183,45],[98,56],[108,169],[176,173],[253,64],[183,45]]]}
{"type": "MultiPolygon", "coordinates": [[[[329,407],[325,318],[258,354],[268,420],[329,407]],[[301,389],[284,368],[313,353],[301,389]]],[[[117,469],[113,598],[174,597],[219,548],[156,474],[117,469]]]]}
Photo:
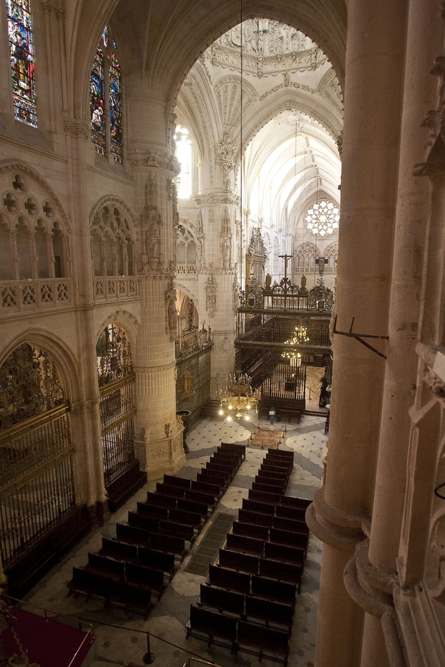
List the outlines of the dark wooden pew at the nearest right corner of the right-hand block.
{"type": "Polygon", "coordinates": [[[236,650],[248,650],[249,653],[258,653],[260,660],[265,657],[281,658],[284,666],[287,665],[289,655],[289,635],[287,632],[265,628],[247,621],[238,621],[238,634],[236,637],[236,650]]]}

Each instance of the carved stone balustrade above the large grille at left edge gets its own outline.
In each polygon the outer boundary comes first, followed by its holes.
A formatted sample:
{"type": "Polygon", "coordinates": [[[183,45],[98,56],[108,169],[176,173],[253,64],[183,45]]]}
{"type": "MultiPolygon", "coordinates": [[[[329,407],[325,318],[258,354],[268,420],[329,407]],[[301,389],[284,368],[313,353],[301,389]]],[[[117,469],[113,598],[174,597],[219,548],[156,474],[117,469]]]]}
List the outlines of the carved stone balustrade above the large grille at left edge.
{"type": "Polygon", "coordinates": [[[72,278],[1,280],[1,317],[73,305],[72,278]]]}

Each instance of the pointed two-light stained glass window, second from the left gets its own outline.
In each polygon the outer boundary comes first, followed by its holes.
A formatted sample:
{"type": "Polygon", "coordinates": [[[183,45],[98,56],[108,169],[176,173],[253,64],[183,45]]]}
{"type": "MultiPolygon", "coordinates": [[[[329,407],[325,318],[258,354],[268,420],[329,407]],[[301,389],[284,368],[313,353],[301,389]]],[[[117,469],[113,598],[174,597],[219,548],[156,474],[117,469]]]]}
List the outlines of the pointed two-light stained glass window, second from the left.
{"type": "Polygon", "coordinates": [[[97,153],[122,162],[122,82],[117,46],[104,28],[90,79],[91,140],[97,153]]]}

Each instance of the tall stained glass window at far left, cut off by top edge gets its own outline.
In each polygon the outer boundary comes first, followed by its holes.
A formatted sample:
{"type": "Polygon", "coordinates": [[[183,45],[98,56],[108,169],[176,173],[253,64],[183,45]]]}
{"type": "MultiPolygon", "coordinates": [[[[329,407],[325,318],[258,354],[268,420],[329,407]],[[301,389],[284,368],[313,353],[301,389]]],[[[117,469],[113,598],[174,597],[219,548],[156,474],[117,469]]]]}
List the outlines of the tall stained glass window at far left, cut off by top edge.
{"type": "Polygon", "coordinates": [[[14,116],[37,127],[30,0],[6,0],[14,116]]]}

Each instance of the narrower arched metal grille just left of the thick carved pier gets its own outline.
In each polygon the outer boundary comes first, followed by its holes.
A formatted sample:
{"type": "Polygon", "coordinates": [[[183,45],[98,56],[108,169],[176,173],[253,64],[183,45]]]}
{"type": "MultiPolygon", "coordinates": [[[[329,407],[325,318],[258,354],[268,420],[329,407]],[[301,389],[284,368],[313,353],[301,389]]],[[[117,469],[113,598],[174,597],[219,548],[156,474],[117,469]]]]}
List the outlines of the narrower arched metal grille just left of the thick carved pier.
{"type": "Polygon", "coordinates": [[[108,487],[135,459],[135,374],[125,331],[108,325],[97,341],[104,481],[108,487]]]}

